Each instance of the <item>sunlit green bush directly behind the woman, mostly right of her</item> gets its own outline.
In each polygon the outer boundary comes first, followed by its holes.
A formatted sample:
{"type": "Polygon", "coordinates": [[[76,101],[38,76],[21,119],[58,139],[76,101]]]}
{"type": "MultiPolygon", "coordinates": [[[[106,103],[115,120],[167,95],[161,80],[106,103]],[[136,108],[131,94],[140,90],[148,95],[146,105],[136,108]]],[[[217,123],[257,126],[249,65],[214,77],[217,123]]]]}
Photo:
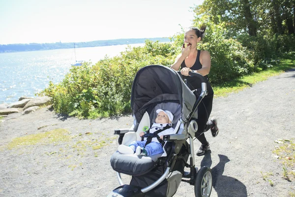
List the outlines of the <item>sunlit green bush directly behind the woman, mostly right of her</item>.
{"type": "MultiPolygon", "coordinates": [[[[198,24],[195,24],[198,27],[198,24]]],[[[250,54],[235,39],[225,39],[226,30],[222,25],[207,23],[206,35],[198,48],[207,50],[211,55],[209,78],[211,83],[217,84],[238,78],[253,72],[253,60],[250,54]]],[[[181,46],[183,33],[174,36],[175,43],[181,46]]],[[[179,53],[180,53],[180,48],[179,53]]]]}

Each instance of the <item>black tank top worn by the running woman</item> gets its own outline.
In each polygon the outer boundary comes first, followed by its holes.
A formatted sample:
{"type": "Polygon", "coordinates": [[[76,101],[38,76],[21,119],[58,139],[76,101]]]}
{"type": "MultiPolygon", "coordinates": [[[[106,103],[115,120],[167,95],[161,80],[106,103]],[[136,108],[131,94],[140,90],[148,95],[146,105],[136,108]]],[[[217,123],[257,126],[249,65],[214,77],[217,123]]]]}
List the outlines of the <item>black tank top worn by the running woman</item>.
{"type": "MultiPolygon", "coordinates": [[[[200,62],[200,54],[201,54],[201,50],[198,50],[196,62],[192,67],[190,67],[190,69],[199,70],[202,68],[202,64],[200,62]]],[[[185,65],[185,61],[183,60],[183,62],[181,63],[181,68],[184,68],[184,67],[186,67],[186,65],[185,65]]],[[[202,85],[201,85],[202,83],[201,83],[201,80],[199,80],[199,78],[190,77],[190,76],[183,76],[183,77],[184,77],[184,79],[186,79],[186,83],[188,83],[188,87],[191,90],[202,88],[202,85]]],[[[204,77],[205,77],[205,79],[207,79],[207,90],[208,90],[207,96],[213,95],[214,92],[213,92],[213,89],[212,89],[211,84],[209,82],[208,75],[206,75],[204,77]]]]}

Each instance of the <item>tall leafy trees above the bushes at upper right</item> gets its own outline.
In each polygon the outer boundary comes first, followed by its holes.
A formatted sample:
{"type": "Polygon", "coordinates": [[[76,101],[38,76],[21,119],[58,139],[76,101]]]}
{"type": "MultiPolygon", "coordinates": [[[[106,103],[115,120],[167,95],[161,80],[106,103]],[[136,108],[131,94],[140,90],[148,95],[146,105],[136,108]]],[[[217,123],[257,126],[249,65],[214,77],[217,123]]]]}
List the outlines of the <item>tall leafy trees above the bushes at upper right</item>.
{"type": "Polygon", "coordinates": [[[204,0],[194,12],[195,22],[224,24],[227,37],[295,32],[295,1],[291,0],[204,0]]]}

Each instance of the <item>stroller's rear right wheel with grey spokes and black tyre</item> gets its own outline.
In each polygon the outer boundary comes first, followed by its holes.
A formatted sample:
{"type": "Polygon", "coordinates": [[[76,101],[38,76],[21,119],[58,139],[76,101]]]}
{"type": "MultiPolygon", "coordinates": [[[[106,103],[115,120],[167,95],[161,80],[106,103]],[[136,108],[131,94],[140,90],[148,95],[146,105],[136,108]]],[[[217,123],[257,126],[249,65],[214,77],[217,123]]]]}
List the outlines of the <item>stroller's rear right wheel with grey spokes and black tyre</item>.
{"type": "Polygon", "coordinates": [[[207,166],[201,167],[195,178],[195,197],[209,197],[212,191],[212,173],[207,166]]]}

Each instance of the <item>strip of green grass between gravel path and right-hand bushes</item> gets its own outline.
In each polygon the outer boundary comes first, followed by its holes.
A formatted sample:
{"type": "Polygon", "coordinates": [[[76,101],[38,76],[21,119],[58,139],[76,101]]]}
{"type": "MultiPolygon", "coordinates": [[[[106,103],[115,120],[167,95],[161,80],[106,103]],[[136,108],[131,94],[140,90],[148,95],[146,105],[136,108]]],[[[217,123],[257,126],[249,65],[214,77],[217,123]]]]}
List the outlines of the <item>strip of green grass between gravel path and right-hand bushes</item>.
{"type": "Polygon", "coordinates": [[[245,88],[252,87],[252,85],[257,82],[264,81],[269,77],[279,75],[282,72],[285,72],[286,70],[294,67],[295,56],[290,56],[288,59],[282,59],[279,63],[267,68],[266,70],[256,72],[249,76],[243,76],[233,81],[215,85],[213,87],[214,96],[225,97],[230,93],[239,92],[245,88]]]}

